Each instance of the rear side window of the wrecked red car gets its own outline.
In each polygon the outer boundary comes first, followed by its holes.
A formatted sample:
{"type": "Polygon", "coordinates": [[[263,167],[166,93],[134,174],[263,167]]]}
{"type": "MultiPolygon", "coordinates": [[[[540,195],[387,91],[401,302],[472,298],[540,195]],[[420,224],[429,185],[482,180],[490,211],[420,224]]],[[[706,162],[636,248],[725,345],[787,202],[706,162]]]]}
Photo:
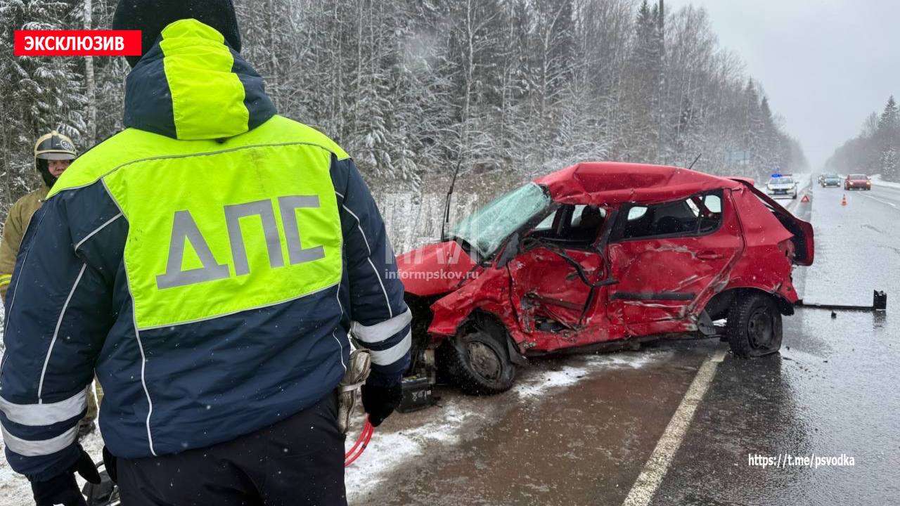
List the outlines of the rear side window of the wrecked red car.
{"type": "Polygon", "coordinates": [[[702,235],[722,222],[721,192],[697,194],[675,202],[630,204],[617,223],[616,240],[702,235]]]}

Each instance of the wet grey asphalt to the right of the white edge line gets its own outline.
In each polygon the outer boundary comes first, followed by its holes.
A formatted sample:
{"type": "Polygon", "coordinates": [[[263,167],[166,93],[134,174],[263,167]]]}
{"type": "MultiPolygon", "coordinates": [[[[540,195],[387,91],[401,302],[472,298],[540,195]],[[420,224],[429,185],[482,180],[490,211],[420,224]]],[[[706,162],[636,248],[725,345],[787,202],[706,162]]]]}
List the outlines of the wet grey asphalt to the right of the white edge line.
{"type": "Polygon", "coordinates": [[[800,294],[865,304],[878,288],[888,311],[800,309],[779,356],[726,358],[652,504],[900,504],[900,209],[879,202],[900,207],[900,191],[846,192],[846,207],[843,194],[814,189],[816,259],[798,269],[800,294]],[[854,465],[762,468],[750,453],[854,465]]]}

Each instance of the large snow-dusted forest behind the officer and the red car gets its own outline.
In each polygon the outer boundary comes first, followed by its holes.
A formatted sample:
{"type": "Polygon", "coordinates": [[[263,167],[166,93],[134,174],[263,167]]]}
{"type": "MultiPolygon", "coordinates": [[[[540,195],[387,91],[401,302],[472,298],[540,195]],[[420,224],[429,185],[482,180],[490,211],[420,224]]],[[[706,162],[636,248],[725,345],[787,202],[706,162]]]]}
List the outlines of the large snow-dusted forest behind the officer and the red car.
{"type": "MultiPolygon", "coordinates": [[[[114,0],[0,0],[0,212],[51,129],[121,129],[122,58],[19,58],[17,29],[107,29],[114,0]]],[[[806,158],[707,13],[662,0],[236,0],[242,54],[281,114],[366,178],[536,176],[617,159],[756,178],[806,158]]],[[[895,120],[896,121],[896,120],[895,120]]],[[[399,185],[399,183],[397,183],[399,185]]],[[[427,190],[426,188],[420,188],[427,190]]]]}

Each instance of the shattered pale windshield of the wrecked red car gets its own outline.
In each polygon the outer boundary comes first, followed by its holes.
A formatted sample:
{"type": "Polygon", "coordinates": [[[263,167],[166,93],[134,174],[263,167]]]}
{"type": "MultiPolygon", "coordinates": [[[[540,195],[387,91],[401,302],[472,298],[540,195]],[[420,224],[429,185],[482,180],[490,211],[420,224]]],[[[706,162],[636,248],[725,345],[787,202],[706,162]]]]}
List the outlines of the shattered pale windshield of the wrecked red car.
{"type": "Polygon", "coordinates": [[[550,202],[544,188],[528,183],[473,212],[450,230],[450,236],[471,244],[479,257],[490,257],[509,234],[550,202]]]}

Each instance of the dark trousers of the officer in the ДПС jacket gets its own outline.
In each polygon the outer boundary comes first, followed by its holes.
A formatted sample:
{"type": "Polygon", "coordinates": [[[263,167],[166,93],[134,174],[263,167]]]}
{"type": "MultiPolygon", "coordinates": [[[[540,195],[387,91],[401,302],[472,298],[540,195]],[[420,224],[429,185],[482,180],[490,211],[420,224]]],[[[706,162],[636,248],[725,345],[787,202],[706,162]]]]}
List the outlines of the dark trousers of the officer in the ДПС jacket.
{"type": "Polygon", "coordinates": [[[337,395],[274,425],[176,455],[119,458],[122,506],[346,506],[337,395]]]}

